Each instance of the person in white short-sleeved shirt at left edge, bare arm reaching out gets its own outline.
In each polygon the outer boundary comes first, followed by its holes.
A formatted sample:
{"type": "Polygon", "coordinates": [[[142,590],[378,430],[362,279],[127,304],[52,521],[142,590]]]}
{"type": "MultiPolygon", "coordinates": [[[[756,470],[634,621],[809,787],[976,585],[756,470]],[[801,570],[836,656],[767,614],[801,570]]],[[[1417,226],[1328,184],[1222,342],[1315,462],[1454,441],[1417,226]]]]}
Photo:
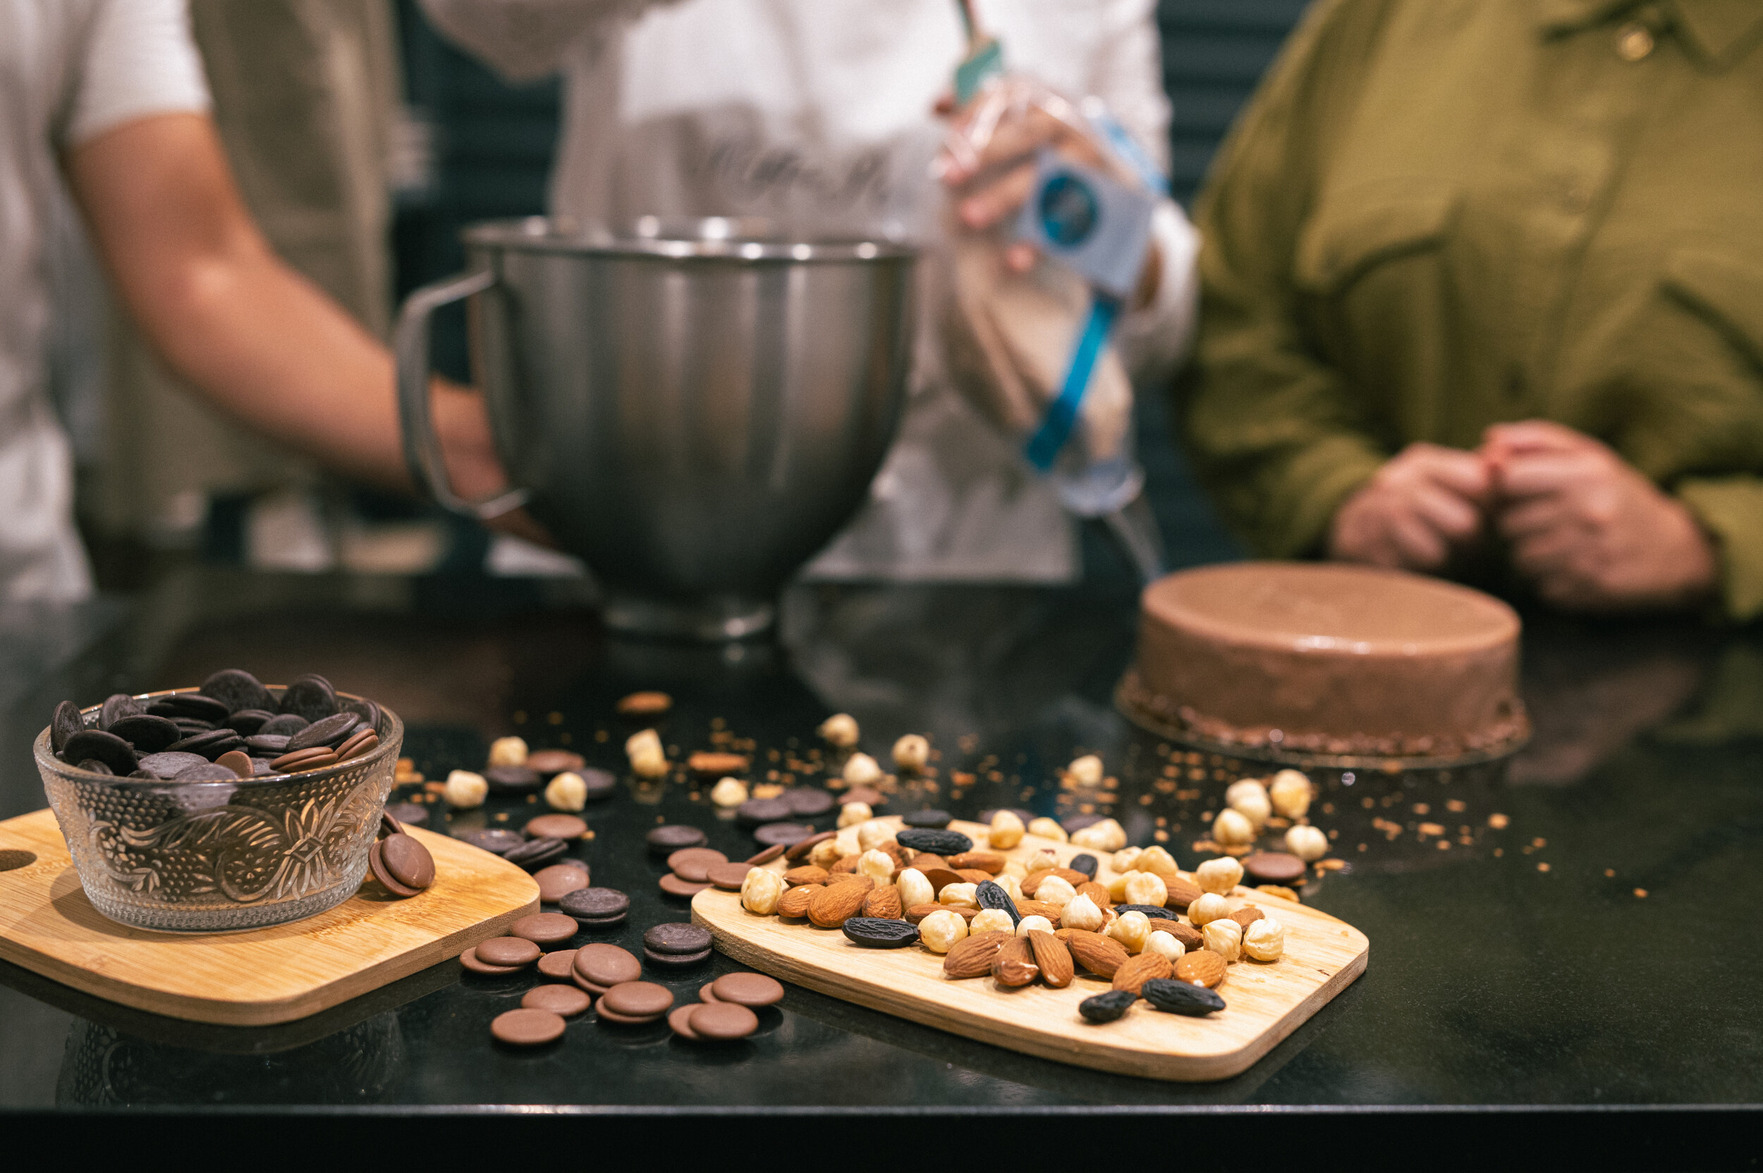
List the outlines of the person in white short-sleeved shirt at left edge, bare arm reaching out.
{"type": "MultiPolygon", "coordinates": [[[[69,446],[44,392],[46,242],[63,180],[173,374],[346,474],[409,487],[391,356],[245,212],[183,0],[0,0],[0,601],[90,591],[69,446]]],[[[481,400],[443,390],[435,407],[453,476],[502,485],[481,400]]]]}

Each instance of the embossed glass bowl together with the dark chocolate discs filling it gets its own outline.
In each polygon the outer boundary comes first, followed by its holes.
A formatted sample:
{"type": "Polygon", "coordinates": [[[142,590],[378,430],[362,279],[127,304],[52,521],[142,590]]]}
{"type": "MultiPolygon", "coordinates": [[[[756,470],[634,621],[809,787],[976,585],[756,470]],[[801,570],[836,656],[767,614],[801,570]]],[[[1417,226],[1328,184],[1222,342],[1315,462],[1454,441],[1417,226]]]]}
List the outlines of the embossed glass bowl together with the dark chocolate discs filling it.
{"type": "Polygon", "coordinates": [[[337,744],[296,750],[293,760],[284,746],[259,767],[259,748],[227,725],[234,704],[279,718],[300,709],[298,728],[340,711],[321,677],[264,686],[229,669],[199,690],[58,706],[39,734],[49,806],[100,914],[134,928],[226,931],[298,921],[360,887],[404,723],[372,706],[372,728],[351,714],[337,744]],[[167,723],[182,734],[169,743],[167,723]],[[338,755],[351,736],[349,757],[338,755]]]}

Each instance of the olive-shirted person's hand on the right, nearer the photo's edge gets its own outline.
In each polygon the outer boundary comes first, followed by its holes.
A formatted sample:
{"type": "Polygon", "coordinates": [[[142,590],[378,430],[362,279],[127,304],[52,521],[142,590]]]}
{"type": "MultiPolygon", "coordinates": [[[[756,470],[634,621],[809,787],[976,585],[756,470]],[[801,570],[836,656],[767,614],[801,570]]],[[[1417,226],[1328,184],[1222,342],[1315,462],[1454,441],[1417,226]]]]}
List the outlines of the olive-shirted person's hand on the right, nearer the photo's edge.
{"type": "Polygon", "coordinates": [[[1719,579],[1708,536],[1606,445],[1525,420],[1486,430],[1493,524],[1537,594],[1574,610],[1689,607],[1719,579]]]}

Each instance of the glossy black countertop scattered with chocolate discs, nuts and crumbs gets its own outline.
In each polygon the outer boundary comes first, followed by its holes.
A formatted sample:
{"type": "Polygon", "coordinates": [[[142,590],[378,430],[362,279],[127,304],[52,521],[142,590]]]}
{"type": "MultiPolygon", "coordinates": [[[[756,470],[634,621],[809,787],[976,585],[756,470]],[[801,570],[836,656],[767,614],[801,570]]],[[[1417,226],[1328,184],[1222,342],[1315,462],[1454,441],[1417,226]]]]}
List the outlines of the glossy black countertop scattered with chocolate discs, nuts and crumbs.
{"type": "MultiPolygon", "coordinates": [[[[1167,847],[1192,866],[1199,815],[1239,771],[1185,757],[1114,713],[1132,624],[1120,587],[802,586],[779,644],[705,649],[608,640],[569,586],[192,572],[132,607],[63,614],[60,626],[33,619],[32,630],[53,635],[49,651],[4,644],[0,817],[42,806],[23,746],[62,695],[92,702],[238,665],[270,681],[317,670],[379,697],[405,718],[405,753],[430,778],[480,767],[501,734],[569,744],[621,769],[612,702],[636,688],[673,693],[663,734],[681,753],[709,748],[718,721],[755,739],[760,755],[806,751],[837,709],[857,716],[864,748],[882,760],[896,736],[929,734],[940,792],[903,790],[887,813],[1070,811],[1049,780],[1077,751],[1097,751],[1120,778],[1109,810],[1134,841],[1149,841],[1160,820],[1179,824],[1167,847]],[[1172,762],[1179,790],[1158,787],[1172,762]],[[980,780],[957,794],[957,769],[980,780]]],[[[1509,766],[1313,774],[1313,820],[1338,831],[1349,868],[1305,900],[1370,937],[1370,968],[1234,1080],[1105,1076],[795,988],[758,1035],[728,1050],[673,1042],[665,1027],[577,1021],[561,1046],[515,1053],[492,1046],[488,1021],[532,979],[462,981],[453,961],[273,1030],[136,1014],[0,965],[0,1108],[1763,1101],[1752,900],[1763,870],[1763,639],[1544,616],[1529,623],[1525,663],[1537,737],[1509,766]],[[1490,827],[1497,813],[1509,826],[1490,827]],[[1373,818],[1402,831],[1389,838],[1373,818]],[[1449,847],[1421,840],[1419,822],[1444,824],[1449,847]]],[[[631,787],[585,811],[596,838],[578,854],[596,884],[633,896],[629,923],[605,938],[629,945],[645,926],[689,915],[659,894],[663,866],[640,843],[659,818],[707,829],[732,857],[756,850],[705,796],[679,783],[631,787]]],[[[515,826],[534,811],[492,801],[453,826],[502,810],[515,826]]],[[[689,993],[728,968],[716,956],[661,981],[689,993]]]]}

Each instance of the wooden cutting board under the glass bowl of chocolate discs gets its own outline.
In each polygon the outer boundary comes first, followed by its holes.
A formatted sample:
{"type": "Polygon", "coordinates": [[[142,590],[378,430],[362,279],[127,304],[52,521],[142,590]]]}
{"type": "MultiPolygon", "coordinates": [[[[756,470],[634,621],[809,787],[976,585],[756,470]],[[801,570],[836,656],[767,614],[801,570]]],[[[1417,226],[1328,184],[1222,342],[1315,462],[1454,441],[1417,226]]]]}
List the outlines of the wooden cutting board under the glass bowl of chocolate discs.
{"type": "MultiPolygon", "coordinates": [[[[434,885],[409,900],[356,894],[330,912],[243,933],[153,933],[104,917],[74,873],[55,811],[0,822],[0,958],[139,1011],[226,1027],[294,1021],[497,937],[538,912],[511,863],[416,827],[434,885]]],[[[368,885],[370,891],[377,885],[368,885]]]]}

